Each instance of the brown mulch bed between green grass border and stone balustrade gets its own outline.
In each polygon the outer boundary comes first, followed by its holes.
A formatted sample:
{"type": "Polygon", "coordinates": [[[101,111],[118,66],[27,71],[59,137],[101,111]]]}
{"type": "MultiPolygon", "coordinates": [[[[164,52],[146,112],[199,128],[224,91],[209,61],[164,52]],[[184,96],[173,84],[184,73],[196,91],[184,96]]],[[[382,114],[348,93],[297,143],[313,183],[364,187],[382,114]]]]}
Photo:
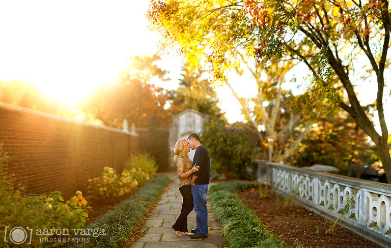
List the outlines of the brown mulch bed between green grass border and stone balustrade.
{"type": "Polygon", "coordinates": [[[301,247],[375,247],[382,246],[372,242],[353,231],[336,225],[332,233],[325,234],[325,229],[332,222],[323,216],[290,202],[284,209],[285,198],[268,191],[267,196],[260,198],[258,189],[248,189],[238,192],[243,203],[255,211],[261,222],[290,247],[297,244],[301,247]]]}

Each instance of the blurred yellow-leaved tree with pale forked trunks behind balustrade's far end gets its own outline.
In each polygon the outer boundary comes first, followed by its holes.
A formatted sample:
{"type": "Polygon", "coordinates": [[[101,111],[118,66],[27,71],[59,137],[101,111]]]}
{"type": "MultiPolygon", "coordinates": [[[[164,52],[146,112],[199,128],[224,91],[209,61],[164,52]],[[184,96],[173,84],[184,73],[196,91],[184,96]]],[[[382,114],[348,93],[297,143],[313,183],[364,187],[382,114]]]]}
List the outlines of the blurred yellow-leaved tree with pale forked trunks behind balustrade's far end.
{"type": "MultiPolygon", "coordinates": [[[[240,54],[240,53],[238,53],[240,54]]],[[[240,54],[241,55],[241,54],[240,54]]],[[[272,161],[284,162],[290,158],[297,149],[301,140],[310,131],[311,125],[305,122],[301,113],[293,113],[290,103],[294,96],[290,90],[284,90],[282,85],[285,81],[285,74],[292,68],[290,61],[273,61],[270,65],[256,64],[254,69],[248,66],[247,61],[241,56],[242,62],[252,73],[258,85],[257,97],[251,100],[240,98],[230,83],[226,84],[231,88],[233,95],[242,106],[242,113],[252,126],[259,130],[258,136],[262,140],[262,159],[268,159],[270,144],[268,139],[272,139],[272,161]],[[266,80],[261,79],[261,73],[267,75],[266,80]],[[254,108],[249,108],[248,102],[252,101],[254,108]],[[267,105],[266,105],[267,103],[267,105]]],[[[240,73],[240,72],[239,72],[240,73]]]]}

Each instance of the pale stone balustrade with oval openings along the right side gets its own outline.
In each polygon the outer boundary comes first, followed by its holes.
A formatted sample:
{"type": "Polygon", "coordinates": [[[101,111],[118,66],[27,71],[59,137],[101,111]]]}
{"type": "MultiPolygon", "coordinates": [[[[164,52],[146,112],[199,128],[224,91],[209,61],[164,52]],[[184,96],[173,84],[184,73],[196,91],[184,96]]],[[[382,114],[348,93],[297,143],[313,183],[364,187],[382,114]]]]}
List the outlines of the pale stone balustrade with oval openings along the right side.
{"type": "Polygon", "coordinates": [[[391,185],[357,178],[313,172],[276,163],[265,163],[267,182],[295,202],[336,220],[346,203],[346,218],[338,223],[391,247],[391,185]]]}

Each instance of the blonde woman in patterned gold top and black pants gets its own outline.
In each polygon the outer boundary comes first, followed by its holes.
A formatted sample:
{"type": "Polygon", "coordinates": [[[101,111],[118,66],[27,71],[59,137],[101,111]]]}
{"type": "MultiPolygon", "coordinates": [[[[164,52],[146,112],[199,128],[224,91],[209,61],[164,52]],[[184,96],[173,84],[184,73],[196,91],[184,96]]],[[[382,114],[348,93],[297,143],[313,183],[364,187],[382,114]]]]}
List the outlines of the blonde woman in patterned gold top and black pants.
{"type": "Polygon", "coordinates": [[[173,225],[175,235],[182,236],[180,232],[184,232],[187,236],[191,235],[187,231],[187,215],[193,210],[193,196],[191,195],[190,179],[191,173],[200,169],[199,166],[192,166],[189,160],[190,145],[185,139],[177,141],[174,147],[174,162],[177,164],[177,173],[179,178],[179,191],[182,195],[182,210],[177,221],[173,225]]]}

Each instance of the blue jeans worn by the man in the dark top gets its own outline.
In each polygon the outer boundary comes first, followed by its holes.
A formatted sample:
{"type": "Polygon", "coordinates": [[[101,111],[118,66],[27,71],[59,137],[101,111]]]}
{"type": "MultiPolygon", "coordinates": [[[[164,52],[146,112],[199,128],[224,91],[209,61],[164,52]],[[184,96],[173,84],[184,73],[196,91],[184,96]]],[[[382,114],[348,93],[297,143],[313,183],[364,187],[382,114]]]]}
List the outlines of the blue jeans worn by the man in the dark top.
{"type": "Polygon", "coordinates": [[[197,234],[202,236],[208,236],[208,208],[206,207],[208,188],[209,184],[191,186],[194,212],[197,214],[197,234]]]}

